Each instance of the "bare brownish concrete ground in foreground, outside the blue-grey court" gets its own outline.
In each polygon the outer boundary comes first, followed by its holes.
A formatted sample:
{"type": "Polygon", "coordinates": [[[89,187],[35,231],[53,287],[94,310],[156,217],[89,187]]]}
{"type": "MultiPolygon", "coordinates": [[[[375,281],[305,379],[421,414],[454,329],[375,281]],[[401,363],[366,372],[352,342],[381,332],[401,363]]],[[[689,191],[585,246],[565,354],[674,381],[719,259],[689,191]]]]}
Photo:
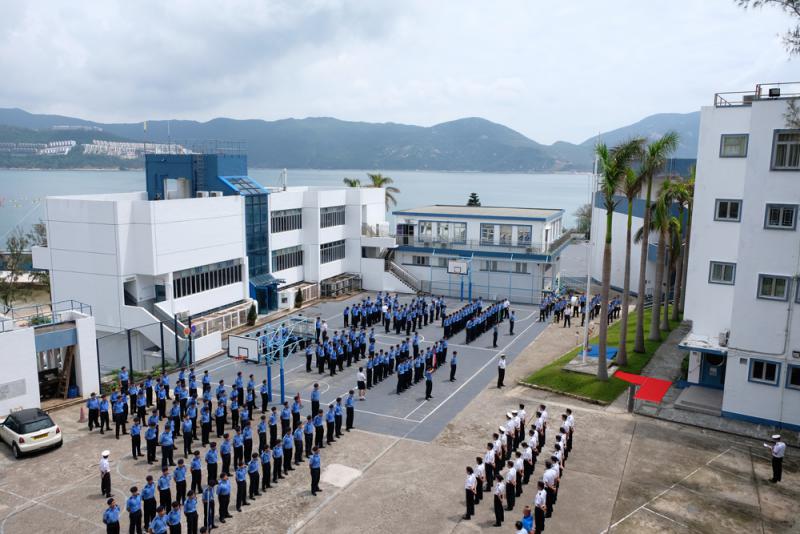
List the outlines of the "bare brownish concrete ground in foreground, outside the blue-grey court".
{"type": "MultiPolygon", "coordinates": [[[[547,328],[509,367],[508,383],[573,346],[576,332],[547,328]]],[[[372,392],[370,397],[368,404],[372,392]]],[[[455,398],[435,414],[448,410],[455,398]]],[[[462,487],[464,466],[483,449],[503,414],[520,402],[528,408],[544,402],[553,415],[569,406],[576,415],[574,450],[548,533],[800,532],[797,449],[787,453],[784,482],[772,485],[766,482],[769,464],[760,441],[630,415],[616,404],[599,408],[487,383],[460,405],[453,403],[458,413],[432,441],[363,428],[350,432],[323,451],[322,494],[310,495],[307,469],[300,468],[245,513],[234,512],[220,531],[513,532],[511,520],[532,499],[531,488],[504,527],[491,529],[488,502],[474,520],[461,520],[462,487]]],[[[104,532],[97,475],[103,448],[112,451],[117,496],[141,484],[146,474],[156,474],[146,462],[130,458],[126,438],[87,435],[85,425],[76,423],[76,407],[54,416],[64,429],[60,450],[14,461],[7,448],[0,449],[0,534],[104,532]]],[[[365,415],[358,414],[356,423],[366,424],[365,415]]],[[[534,477],[541,472],[537,466],[534,477]]],[[[123,520],[123,531],[126,526],[123,520]]]]}

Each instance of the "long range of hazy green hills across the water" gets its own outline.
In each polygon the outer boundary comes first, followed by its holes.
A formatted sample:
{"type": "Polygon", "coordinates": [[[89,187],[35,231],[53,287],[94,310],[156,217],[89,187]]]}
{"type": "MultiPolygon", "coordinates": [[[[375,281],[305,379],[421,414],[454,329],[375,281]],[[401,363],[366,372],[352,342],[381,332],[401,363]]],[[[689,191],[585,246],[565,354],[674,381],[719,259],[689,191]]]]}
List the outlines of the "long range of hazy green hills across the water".
{"type": "MultiPolygon", "coordinates": [[[[652,137],[667,130],[681,135],[677,157],[695,157],[698,113],[659,114],[601,134],[609,144],[632,136],[652,137]]],[[[484,172],[586,171],[592,167],[595,138],[581,144],[564,141],[543,145],[501,124],[477,117],[431,127],[397,123],[342,121],[329,117],[263,121],[218,118],[95,123],[60,115],[38,115],[21,109],[0,109],[0,124],[52,134],[53,127],[101,128],[116,140],[166,142],[243,140],[253,167],[313,169],[386,169],[484,172]],[[167,124],[169,122],[169,135],[167,124]]],[[[110,139],[100,132],[57,130],[60,139],[110,139]],[[72,134],[72,137],[69,137],[72,134]],[[94,134],[94,137],[92,137],[94,134]]],[[[0,129],[0,136],[6,134],[0,129]]],[[[81,141],[79,141],[81,142],[81,141]]],[[[3,161],[0,161],[0,166],[3,161]]],[[[116,166],[116,164],[111,164],[116,166]]]]}

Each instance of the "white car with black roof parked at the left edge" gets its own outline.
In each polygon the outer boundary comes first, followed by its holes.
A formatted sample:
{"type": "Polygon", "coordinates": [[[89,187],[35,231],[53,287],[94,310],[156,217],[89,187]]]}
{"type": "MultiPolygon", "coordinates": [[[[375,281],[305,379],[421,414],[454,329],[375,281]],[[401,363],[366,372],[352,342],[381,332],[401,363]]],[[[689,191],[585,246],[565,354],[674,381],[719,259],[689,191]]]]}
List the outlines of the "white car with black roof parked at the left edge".
{"type": "Polygon", "coordinates": [[[47,413],[28,408],[9,414],[0,423],[0,441],[8,443],[14,458],[19,458],[29,452],[60,447],[63,436],[47,413]]]}

